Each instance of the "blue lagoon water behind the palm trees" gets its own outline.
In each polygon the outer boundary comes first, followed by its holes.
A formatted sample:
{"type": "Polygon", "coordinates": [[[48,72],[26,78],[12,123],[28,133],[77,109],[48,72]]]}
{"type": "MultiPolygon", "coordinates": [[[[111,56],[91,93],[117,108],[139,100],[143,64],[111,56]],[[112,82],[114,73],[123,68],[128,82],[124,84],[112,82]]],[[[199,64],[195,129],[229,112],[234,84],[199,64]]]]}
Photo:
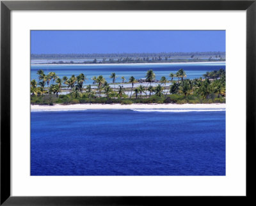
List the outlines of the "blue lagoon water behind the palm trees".
{"type": "MultiPolygon", "coordinates": [[[[121,77],[126,78],[126,82],[129,81],[131,76],[136,79],[145,78],[145,75],[148,70],[153,70],[156,73],[156,80],[160,80],[161,77],[166,77],[168,80],[171,80],[169,77],[170,72],[176,73],[179,69],[183,69],[186,71],[187,78],[200,78],[206,73],[206,71],[214,71],[214,70],[225,70],[225,62],[223,63],[193,63],[193,64],[115,64],[115,65],[84,65],[84,64],[49,64],[49,65],[31,65],[31,80],[35,79],[38,81],[38,75],[36,72],[38,70],[44,70],[47,74],[50,71],[55,72],[58,77],[62,78],[67,76],[68,78],[72,75],[79,75],[80,73],[84,73],[88,80],[86,80],[85,84],[92,84],[92,77],[102,75],[106,80],[110,83],[112,79],[109,78],[111,73],[115,72],[117,75],[116,82],[122,82],[121,77]]],[[[173,78],[177,80],[177,78],[173,78]]]]}

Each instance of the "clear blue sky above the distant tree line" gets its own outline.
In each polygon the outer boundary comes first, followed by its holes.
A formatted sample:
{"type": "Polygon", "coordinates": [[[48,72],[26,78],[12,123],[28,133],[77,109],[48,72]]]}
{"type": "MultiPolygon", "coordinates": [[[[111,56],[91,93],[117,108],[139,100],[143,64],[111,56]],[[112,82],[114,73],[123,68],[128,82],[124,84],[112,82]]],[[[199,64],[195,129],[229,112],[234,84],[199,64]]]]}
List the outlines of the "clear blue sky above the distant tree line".
{"type": "Polygon", "coordinates": [[[225,31],[31,31],[31,54],[225,52],[225,31]]]}

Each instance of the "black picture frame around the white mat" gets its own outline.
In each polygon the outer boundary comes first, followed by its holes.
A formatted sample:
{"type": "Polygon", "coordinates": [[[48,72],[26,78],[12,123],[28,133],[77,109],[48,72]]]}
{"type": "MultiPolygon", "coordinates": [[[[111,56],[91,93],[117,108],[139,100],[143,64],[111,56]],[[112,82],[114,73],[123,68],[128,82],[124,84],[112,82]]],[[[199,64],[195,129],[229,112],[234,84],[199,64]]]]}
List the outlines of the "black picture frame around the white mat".
{"type": "Polygon", "coordinates": [[[246,203],[255,198],[256,0],[1,1],[1,205],[166,205],[246,203]],[[10,12],[12,10],[246,10],[246,196],[10,196],[10,12]]]}

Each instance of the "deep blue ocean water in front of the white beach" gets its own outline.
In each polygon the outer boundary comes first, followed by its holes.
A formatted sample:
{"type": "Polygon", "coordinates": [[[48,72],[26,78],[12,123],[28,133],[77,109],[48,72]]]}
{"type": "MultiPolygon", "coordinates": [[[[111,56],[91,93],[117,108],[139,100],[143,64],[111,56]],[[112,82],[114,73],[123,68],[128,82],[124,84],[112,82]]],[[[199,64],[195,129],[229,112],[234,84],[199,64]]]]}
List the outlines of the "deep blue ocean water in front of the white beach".
{"type": "Polygon", "coordinates": [[[225,110],[31,112],[31,175],[225,175],[225,110]]]}

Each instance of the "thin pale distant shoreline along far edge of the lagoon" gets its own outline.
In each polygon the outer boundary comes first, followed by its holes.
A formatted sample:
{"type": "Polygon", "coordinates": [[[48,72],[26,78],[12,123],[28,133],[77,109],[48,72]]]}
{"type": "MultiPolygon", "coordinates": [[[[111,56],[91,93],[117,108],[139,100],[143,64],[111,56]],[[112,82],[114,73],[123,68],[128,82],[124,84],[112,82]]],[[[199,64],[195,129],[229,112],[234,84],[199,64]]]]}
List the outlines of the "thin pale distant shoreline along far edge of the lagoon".
{"type": "Polygon", "coordinates": [[[51,66],[51,65],[63,65],[63,66],[68,66],[68,65],[74,65],[74,66],[103,66],[103,65],[109,65],[109,66],[114,66],[114,65],[154,65],[154,64],[163,64],[163,65],[168,65],[168,64],[212,64],[212,63],[226,63],[226,61],[198,61],[198,62],[184,62],[184,63],[120,63],[120,64],[30,64],[31,66],[51,66]]]}

